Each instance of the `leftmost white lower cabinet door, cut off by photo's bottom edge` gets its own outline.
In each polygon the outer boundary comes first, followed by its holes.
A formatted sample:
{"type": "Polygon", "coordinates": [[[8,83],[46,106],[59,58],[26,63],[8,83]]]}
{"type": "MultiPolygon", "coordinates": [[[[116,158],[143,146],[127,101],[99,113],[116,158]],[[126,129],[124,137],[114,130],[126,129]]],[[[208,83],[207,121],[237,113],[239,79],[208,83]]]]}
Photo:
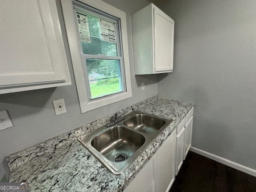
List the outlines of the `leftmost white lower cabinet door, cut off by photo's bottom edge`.
{"type": "Polygon", "coordinates": [[[154,192],[153,180],[153,160],[154,156],[135,176],[132,182],[125,188],[124,192],[154,192]]]}

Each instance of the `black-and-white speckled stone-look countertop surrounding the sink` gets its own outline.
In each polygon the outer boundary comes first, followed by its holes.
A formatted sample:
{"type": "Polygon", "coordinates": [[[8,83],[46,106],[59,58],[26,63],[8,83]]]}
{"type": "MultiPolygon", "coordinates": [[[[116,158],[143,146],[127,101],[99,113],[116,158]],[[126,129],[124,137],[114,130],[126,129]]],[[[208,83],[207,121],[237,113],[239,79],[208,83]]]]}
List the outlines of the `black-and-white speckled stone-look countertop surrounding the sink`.
{"type": "Polygon", "coordinates": [[[119,176],[111,174],[77,140],[108,123],[111,114],[7,156],[9,182],[29,182],[30,191],[36,192],[122,192],[193,106],[193,102],[159,99],[158,95],[134,104],[137,111],[171,118],[173,122],[119,176]]]}

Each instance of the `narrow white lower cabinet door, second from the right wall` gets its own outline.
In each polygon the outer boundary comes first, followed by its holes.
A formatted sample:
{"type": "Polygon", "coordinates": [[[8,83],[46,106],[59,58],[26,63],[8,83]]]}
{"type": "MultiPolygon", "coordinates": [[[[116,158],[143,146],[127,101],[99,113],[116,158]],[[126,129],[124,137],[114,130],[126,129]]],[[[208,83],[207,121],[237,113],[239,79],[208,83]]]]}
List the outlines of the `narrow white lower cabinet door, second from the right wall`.
{"type": "Polygon", "coordinates": [[[185,128],[183,127],[182,130],[176,136],[176,175],[178,174],[183,163],[184,147],[185,128]]]}

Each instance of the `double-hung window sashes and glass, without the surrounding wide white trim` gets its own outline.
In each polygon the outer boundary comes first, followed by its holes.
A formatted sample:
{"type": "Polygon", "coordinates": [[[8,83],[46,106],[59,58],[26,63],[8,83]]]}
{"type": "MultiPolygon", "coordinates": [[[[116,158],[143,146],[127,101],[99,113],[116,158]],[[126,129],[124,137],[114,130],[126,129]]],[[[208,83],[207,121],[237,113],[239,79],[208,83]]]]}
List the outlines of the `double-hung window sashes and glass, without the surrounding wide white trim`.
{"type": "Polygon", "coordinates": [[[90,100],[123,92],[120,19],[85,5],[74,6],[74,12],[90,100]]]}

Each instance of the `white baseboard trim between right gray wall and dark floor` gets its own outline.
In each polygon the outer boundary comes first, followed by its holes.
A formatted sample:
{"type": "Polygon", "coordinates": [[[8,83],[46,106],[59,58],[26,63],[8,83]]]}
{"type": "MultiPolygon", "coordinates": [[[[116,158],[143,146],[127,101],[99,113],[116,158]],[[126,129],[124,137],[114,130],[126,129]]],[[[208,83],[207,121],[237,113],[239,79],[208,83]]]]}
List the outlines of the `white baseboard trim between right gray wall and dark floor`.
{"type": "Polygon", "coordinates": [[[225,158],[222,158],[220,156],[208,153],[206,151],[200,150],[200,149],[192,147],[192,146],[190,147],[190,151],[195,152],[197,154],[200,154],[202,156],[208,157],[208,158],[210,158],[212,160],[215,160],[215,161],[220,162],[220,163],[222,163],[224,165],[230,166],[232,168],[235,168],[237,170],[240,170],[242,172],[245,172],[245,173],[247,173],[249,175],[252,175],[252,176],[256,177],[256,170],[254,170],[252,168],[249,168],[249,167],[243,166],[241,164],[232,162],[232,161],[230,161],[228,159],[225,159],[225,158]]]}

